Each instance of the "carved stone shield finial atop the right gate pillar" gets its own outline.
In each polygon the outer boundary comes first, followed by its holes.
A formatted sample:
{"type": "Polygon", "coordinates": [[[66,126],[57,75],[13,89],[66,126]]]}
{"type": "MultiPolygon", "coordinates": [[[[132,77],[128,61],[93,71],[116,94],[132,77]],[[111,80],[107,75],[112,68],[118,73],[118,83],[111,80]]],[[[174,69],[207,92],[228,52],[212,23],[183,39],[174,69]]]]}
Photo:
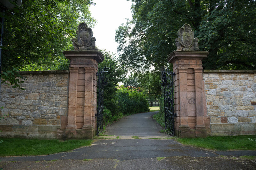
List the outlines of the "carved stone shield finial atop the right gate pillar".
{"type": "Polygon", "coordinates": [[[199,51],[198,38],[194,38],[189,24],[184,24],[178,30],[178,38],[175,39],[177,51],[199,51]]]}

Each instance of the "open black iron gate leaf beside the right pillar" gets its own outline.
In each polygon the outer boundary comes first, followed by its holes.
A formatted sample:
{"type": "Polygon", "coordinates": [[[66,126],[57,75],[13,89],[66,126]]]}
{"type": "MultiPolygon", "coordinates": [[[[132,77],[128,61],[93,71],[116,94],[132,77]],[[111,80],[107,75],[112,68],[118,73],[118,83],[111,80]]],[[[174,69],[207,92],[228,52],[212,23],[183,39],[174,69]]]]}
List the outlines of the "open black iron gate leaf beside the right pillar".
{"type": "Polygon", "coordinates": [[[164,70],[161,72],[163,80],[161,85],[163,86],[164,92],[164,121],[165,121],[165,129],[171,135],[175,135],[174,130],[174,117],[176,114],[174,113],[174,87],[173,87],[173,77],[175,73],[169,70],[164,70]]]}

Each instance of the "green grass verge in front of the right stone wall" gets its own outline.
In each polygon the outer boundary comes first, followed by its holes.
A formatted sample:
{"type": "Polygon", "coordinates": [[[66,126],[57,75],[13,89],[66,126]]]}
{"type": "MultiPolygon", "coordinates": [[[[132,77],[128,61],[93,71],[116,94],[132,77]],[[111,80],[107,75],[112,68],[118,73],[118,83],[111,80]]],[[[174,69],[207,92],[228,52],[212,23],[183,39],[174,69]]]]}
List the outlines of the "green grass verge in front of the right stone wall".
{"type": "Polygon", "coordinates": [[[256,150],[256,135],[177,138],[178,142],[211,150],[256,150]]]}

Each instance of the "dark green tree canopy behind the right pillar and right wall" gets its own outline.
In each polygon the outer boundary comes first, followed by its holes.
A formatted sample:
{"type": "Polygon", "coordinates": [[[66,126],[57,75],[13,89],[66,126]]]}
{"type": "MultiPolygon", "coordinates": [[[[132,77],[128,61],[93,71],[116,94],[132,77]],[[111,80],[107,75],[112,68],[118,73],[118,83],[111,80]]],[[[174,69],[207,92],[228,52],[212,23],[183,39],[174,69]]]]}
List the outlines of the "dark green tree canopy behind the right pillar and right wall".
{"type": "Polygon", "coordinates": [[[135,72],[162,71],[178,29],[195,30],[205,69],[256,69],[255,0],[131,0],[133,18],[116,30],[120,63],[135,72]]]}

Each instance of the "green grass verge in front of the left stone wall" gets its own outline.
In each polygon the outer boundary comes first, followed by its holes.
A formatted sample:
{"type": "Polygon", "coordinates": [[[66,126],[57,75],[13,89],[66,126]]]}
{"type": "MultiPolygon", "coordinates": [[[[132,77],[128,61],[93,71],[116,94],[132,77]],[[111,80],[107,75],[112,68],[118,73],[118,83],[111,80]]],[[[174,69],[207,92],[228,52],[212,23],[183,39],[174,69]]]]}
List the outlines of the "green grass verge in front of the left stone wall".
{"type": "Polygon", "coordinates": [[[23,138],[0,138],[0,156],[48,155],[67,152],[82,146],[89,146],[93,140],[38,140],[23,138]]]}

